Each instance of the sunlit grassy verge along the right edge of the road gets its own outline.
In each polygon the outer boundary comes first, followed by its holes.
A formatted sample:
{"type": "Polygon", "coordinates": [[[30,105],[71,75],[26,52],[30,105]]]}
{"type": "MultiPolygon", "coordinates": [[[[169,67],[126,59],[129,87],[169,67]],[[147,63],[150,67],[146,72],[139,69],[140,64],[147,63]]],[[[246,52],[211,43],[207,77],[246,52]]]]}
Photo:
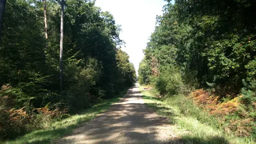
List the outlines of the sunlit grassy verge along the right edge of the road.
{"type": "MultiPolygon", "coordinates": [[[[140,86],[140,90],[143,86],[140,86]]],[[[158,99],[152,91],[142,91],[146,105],[157,114],[168,117],[175,125],[174,133],[185,144],[255,144],[250,139],[226,134],[216,117],[197,108],[184,95],[158,99]]]]}

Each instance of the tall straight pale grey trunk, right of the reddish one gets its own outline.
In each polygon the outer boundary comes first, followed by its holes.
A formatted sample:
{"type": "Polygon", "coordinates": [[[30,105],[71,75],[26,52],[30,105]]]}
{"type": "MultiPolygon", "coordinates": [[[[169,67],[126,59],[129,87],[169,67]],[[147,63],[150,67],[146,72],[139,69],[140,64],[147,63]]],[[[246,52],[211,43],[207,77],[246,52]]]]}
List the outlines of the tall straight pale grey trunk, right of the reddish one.
{"type": "Polygon", "coordinates": [[[64,0],[61,1],[61,43],[60,43],[60,88],[63,90],[63,21],[64,21],[64,0]]]}

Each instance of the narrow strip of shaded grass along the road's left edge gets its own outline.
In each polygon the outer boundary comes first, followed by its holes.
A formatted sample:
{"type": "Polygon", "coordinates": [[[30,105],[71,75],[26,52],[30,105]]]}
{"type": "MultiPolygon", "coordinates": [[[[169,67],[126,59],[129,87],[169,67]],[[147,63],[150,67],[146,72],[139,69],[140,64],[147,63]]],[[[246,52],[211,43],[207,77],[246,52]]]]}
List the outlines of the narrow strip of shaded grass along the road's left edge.
{"type": "Polygon", "coordinates": [[[33,131],[16,140],[0,142],[0,144],[54,144],[57,139],[71,134],[81,123],[89,121],[97,114],[108,110],[111,104],[118,102],[120,97],[123,97],[127,91],[128,89],[120,92],[115,98],[103,100],[77,115],[72,115],[69,118],[55,122],[51,128],[33,131]]]}

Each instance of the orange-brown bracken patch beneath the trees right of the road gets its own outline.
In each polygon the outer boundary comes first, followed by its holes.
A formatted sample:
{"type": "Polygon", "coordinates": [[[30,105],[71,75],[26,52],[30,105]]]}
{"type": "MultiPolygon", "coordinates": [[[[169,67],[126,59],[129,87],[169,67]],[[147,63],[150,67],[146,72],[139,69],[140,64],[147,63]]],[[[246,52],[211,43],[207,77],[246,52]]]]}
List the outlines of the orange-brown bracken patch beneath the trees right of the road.
{"type": "Polygon", "coordinates": [[[197,106],[219,117],[219,123],[225,132],[234,132],[236,136],[255,137],[256,123],[252,115],[255,113],[255,107],[246,105],[243,95],[220,99],[220,96],[209,95],[203,89],[196,89],[192,92],[192,97],[197,106]]]}

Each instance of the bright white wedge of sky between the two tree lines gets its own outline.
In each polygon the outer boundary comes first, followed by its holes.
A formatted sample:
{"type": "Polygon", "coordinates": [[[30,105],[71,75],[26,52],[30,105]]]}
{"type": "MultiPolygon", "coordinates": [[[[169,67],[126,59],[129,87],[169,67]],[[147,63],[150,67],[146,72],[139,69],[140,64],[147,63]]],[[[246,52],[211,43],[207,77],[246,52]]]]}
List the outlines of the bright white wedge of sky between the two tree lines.
{"type": "Polygon", "coordinates": [[[164,0],[96,0],[96,6],[110,12],[121,25],[120,38],[126,42],[122,50],[128,53],[136,72],[144,57],[143,49],[156,26],[156,16],[162,15],[164,0]]]}

